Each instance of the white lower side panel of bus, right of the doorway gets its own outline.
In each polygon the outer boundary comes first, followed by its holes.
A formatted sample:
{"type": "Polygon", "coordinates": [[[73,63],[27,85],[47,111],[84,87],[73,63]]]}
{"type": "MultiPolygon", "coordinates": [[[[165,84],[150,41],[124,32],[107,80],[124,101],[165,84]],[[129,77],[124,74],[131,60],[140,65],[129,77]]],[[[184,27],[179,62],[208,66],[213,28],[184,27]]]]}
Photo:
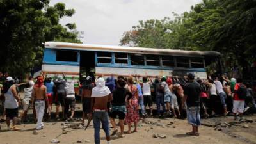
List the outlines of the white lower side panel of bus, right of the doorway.
{"type": "MultiPolygon", "coordinates": [[[[157,70],[157,69],[143,69],[143,68],[117,68],[117,67],[95,67],[95,72],[97,76],[131,76],[140,75],[143,76],[179,76],[184,77],[188,70],[157,70]]],[[[195,77],[200,77],[201,79],[207,79],[206,72],[193,71],[195,77]]]]}

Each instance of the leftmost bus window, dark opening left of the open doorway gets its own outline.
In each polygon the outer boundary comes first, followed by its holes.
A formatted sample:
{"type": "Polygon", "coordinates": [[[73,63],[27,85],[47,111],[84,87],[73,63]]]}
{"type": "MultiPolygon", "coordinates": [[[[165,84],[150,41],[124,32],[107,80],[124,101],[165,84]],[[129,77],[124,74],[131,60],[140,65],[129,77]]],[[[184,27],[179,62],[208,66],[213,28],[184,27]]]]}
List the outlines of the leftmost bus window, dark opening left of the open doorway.
{"type": "Polygon", "coordinates": [[[57,50],[56,61],[77,62],[77,52],[57,50]]]}

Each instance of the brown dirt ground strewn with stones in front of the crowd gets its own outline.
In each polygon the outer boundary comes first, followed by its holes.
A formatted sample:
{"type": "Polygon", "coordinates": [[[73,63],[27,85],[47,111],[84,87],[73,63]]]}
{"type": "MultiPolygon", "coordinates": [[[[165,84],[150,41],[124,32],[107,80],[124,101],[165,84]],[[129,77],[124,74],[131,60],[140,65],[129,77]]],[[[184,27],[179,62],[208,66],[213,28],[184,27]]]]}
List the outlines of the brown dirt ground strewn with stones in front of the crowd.
{"type": "MultiPolygon", "coordinates": [[[[81,118],[81,104],[76,105],[77,111],[76,116],[81,118]]],[[[53,108],[55,109],[55,107],[53,108]]],[[[32,111],[30,110],[29,113],[32,111]]],[[[186,132],[191,131],[191,125],[188,124],[187,120],[179,120],[173,118],[146,118],[145,122],[140,120],[139,128],[137,133],[126,134],[125,138],[118,138],[113,136],[111,143],[113,144],[141,144],[141,143],[152,143],[152,144],[256,144],[256,116],[245,116],[252,120],[252,123],[241,123],[235,124],[231,127],[224,127],[225,122],[232,122],[233,117],[227,116],[226,118],[208,118],[203,119],[203,124],[216,125],[216,122],[221,122],[221,131],[214,130],[214,127],[201,125],[199,127],[200,136],[187,136],[186,132]],[[171,124],[173,123],[173,124],[171,124]],[[244,125],[247,128],[243,128],[244,125]],[[153,134],[164,134],[166,138],[153,138],[153,134]]],[[[117,122],[118,120],[116,120],[117,122]]],[[[87,122],[87,120],[86,120],[87,122]]],[[[62,134],[63,125],[65,122],[44,122],[44,129],[38,131],[38,134],[33,134],[36,124],[21,124],[19,127],[21,131],[6,131],[6,124],[1,123],[0,130],[0,143],[1,144],[44,144],[51,143],[50,141],[57,138],[60,143],[72,144],[77,142],[82,143],[94,143],[93,136],[93,122],[91,122],[88,129],[71,129],[65,128],[68,131],[67,134],[62,134]]],[[[80,123],[80,122],[76,122],[80,123]]],[[[109,122],[110,125],[110,122],[109,122]]],[[[220,129],[219,129],[220,130],[220,129]]],[[[111,132],[113,129],[111,129],[111,132]]],[[[120,129],[118,129],[120,131],[120,129]]],[[[127,131],[127,125],[125,125],[125,131],[127,131]]],[[[104,138],[104,132],[100,130],[101,143],[106,143],[104,138]]]]}

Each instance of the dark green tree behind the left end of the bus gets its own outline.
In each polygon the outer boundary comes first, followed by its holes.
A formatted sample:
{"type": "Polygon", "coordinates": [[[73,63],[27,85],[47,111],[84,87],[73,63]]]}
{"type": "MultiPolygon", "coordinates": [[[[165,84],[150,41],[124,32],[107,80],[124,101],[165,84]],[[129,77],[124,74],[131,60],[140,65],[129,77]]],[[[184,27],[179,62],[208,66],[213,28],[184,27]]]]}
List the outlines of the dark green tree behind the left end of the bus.
{"type": "Polygon", "coordinates": [[[74,12],[63,3],[49,6],[49,0],[1,0],[0,70],[20,76],[40,66],[45,41],[80,43],[76,24],[59,24],[74,12]]]}

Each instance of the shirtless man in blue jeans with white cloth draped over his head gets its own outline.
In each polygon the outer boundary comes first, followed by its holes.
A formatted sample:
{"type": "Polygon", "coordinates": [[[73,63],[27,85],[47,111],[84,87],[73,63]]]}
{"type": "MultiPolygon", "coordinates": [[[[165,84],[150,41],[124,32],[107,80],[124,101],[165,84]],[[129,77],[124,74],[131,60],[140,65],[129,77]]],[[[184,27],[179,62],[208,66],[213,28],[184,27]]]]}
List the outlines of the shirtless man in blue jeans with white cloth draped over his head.
{"type": "Polygon", "coordinates": [[[100,123],[106,134],[107,144],[110,144],[109,122],[108,122],[108,102],[113,97],[103,78],[96,81],[96,87],[92,89],[92,109],[95,144],[100,144],[100,123]]]}

